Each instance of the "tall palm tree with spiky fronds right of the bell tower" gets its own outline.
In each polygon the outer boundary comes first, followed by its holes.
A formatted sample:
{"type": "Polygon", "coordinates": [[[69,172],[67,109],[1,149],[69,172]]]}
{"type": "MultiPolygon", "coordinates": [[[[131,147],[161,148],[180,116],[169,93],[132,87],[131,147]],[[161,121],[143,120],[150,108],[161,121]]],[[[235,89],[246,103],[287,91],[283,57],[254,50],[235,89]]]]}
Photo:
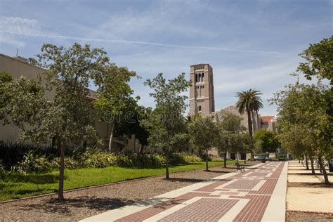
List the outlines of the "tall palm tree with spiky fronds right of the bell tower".
{"type": "Polygon", "coordinates": [[[236,107],[240,115],[243,115],[244,112],[247,112],[247,123],[249,124],[249,136],[253,136],[252,132],[252,115],[254,113],[258,114],[259,109],[263,107],[262,100],[260,98],[260,91],[256,89],[249,89],[248,91],[242,91],[236,93],[238,100],[236,107]]]}

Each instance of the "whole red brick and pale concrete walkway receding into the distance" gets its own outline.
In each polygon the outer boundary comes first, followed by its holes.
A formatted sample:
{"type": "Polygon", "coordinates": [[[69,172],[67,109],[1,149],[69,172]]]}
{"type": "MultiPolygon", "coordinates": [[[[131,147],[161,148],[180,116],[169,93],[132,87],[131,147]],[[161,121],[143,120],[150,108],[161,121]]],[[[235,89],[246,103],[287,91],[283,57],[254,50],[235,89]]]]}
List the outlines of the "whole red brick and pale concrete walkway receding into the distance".
{"type": "Polygon", "coordinates": [[[286,188],[287,162],[268,162],[83,221],[285,221],[286,188]]]}

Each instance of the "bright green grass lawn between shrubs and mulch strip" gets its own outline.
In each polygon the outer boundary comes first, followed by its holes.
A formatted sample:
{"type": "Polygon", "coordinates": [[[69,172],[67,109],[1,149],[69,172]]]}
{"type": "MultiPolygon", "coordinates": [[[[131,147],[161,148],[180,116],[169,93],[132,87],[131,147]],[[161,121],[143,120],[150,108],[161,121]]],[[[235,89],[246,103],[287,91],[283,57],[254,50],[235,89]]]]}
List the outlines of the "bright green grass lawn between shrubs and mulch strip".
{"type": "MultiPolygon", "coordinates": [[[[228,164],[234,161],[228,161],[228,164]]],[[[209,162],[209,166],[222,166],[223,162],[209,162]]],[[[204,169],[205,162],[197,162],[182,166],[171,166],[170,173],[204,169]]],[[[163,167],[139,169],[124,167],[84,168],[65,170],[65,190],[84,188],[126,181],[133,178],[159,176],[165,174],[163,167]]],[[[47,174],[5,174],[0,173],[0,201],[31,197],[58,191],[58,171],[47,174]]]]}

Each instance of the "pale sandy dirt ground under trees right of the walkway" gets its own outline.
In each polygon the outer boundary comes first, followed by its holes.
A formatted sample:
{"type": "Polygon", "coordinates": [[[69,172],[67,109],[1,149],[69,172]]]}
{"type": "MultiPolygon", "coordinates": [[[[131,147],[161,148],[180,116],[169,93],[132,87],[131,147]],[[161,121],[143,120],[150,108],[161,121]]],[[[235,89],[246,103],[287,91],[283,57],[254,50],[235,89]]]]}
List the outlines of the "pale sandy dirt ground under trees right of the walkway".
{"type": "Polygon", "coordinates": [[[306,166],[289,162],[286,221],[333,221],[333,174],[327,185],[315,172],[314,176],[306,166]]]}

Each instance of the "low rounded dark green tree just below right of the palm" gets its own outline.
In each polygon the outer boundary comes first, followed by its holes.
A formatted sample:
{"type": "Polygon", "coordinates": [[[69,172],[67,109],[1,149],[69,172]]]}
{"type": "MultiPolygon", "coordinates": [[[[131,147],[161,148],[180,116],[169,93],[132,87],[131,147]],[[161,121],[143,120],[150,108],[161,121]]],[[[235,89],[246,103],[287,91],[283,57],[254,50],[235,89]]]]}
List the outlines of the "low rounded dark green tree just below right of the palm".
{"type": "Polygon", "coordinates": [[[254,133],[254,143],[261,148],[261,152],[276,152],[280,146],[277,133],[266,129],[254,133]]]}

